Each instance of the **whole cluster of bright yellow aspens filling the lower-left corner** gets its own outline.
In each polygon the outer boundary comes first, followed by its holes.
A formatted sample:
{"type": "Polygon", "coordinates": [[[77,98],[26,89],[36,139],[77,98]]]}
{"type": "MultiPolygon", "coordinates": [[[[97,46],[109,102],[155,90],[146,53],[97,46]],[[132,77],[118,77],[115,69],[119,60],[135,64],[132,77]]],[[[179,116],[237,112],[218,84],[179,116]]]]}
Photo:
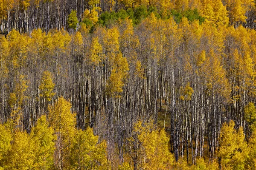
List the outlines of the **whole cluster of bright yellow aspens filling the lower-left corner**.
{"type": "Polygon", "coordinates": [[[107,168],[106,143],[93,130],[76,129],[76,114],[63,97],[41,116],[31,133],[0,125],[1,170],[52,170],[107,168]],[[49,119],[49,121],[47,120],[49,119]]]}

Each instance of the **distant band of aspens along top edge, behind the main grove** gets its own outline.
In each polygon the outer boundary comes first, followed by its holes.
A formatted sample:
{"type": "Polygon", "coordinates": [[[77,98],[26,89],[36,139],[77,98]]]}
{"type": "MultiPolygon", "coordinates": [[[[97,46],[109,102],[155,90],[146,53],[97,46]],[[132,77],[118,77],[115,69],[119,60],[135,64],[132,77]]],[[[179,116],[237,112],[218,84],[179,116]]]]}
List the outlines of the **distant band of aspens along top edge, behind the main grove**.
{"type": "MultiPolygon", "coordinates": [[[[193,10],[197,10],[201,17],[215,24],[236,27],[243,24],[256,28],[254,0],[0,0],[0,30],[9,33],[15,28],[20,32],[31,33],[37,28],[46,32],[51,28],[68,29],[67,20],[71,11],[77,11],[78,21],[81,22],[86,9],[90,11],[91,18],[125,9],[130,16],[134,14],[131,18],[134,17],[135,23],[138,23],[145,17],[143,7],[162,18],[175,16],[178,21],[182,16],[201,20],[192,14],[193,10]]],[[[80,26],[80,23],[76,24],[80,26]]]]}

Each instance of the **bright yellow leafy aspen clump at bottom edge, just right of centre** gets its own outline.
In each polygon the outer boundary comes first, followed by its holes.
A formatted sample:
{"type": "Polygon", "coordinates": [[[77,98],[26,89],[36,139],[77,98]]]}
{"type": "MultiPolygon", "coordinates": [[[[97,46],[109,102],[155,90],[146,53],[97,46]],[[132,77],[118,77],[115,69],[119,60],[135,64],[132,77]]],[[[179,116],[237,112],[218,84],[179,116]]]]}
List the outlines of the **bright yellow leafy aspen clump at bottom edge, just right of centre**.
{"type": "MultiPolygon", "coordinates": [[[[137,122],[134,125],[133,137],[129,141],[134,146],[138,146],[134,150],[134,153],[138,153],[138,169],[164,170],[174,165],[174,157],[169,152],[169,138],[166,132],[164,129],[155,128],[152,122],[144,124],[137,122]]],[[[123,164],[123,167],[128,165],[123,164]]]]}

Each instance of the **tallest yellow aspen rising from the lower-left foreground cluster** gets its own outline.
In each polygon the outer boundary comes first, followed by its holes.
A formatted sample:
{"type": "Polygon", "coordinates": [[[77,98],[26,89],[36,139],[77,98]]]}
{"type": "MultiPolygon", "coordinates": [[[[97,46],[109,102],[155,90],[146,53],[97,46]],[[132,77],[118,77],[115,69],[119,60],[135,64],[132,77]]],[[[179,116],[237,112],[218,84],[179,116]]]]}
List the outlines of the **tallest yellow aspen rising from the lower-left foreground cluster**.
{"type": "Polygon", "coordinates": [[[72,114],[70,109],[70,102],[63,97],[49,106],[49,125],[57,136],[54,161],[58,168],[70,167],[70,152],[76,135],[76,114],[72,114]]]}

